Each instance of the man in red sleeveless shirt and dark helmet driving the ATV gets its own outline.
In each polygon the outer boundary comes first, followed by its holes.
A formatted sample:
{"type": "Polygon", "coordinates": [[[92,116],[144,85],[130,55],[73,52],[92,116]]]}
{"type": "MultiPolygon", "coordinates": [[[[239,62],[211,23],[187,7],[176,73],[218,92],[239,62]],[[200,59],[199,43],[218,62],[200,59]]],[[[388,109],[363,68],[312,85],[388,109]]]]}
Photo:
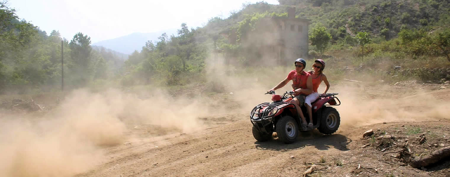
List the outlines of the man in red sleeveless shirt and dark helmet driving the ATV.
{"type": "Polygon", "coordinates": [[[302,118],[302,127],[311,127],[313,126],[312,121],[310,121],[309,124],[306,124],[305,116],[303,116],[302,109],[300,108],[300,106],[304,106],[305,104],[305,97],[310,95],[313,91],[311,74],[303,70],[305,69],[306,61],[302,58],[295,60],[294,65],[295,69],[289,72],[288,77],[281,81],[277,86],[267,91],[267,93],[282,88],[288,84],[289,80],[292,80],[293,86],[297,89],[294,90],[295,98],[292,99],[290,103],[293,103],[297,108],[297,114],[302,118]]]}

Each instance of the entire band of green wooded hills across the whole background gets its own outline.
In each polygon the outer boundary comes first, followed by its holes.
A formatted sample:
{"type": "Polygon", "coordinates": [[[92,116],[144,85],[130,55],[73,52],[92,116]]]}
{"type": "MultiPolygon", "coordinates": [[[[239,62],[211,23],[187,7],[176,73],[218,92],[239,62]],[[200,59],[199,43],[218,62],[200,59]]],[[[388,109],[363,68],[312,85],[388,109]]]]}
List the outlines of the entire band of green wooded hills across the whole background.
{"type": "MultiPolygon", "coordinates": [[[[142,50],[126,57],[91,46],[90,37],[82,32],[73,39],[61,39],[57,30],[47,35],[34,24],[19,20],[14,9],[1,2],[0,91],[60,90],[61,40],[67,89],[207,82],[206,68],[212,65],[221,65],[223,70],[260,65],[254,62],[258,55],[242,45],[240,38],[252,33],[264,18],[286,16],[288,7],[296,8],[296,17],[311,20],[307,59],[324,58],[332,64],[331,71],[343,66],[370,69],[379,79],[385,79],[392,78],[387,71],[396,65],[449,66],[447,0],[279,0],[279,3],[243,4],[242,9],[231,12],[229,17],[211,17],[202,27],[189,28],[183,23],[177,34],[164,33],[157,41],[148,41],[142,50]]],[[[336,70],[333,75],[344,74],[336,70]]],[[[422,79],[442,78],[442,75],[424,78],[428,73],[422,71],[407,74],[422,79]]],[[[450,75],[447,77],[450,79],[450,75]]]]}

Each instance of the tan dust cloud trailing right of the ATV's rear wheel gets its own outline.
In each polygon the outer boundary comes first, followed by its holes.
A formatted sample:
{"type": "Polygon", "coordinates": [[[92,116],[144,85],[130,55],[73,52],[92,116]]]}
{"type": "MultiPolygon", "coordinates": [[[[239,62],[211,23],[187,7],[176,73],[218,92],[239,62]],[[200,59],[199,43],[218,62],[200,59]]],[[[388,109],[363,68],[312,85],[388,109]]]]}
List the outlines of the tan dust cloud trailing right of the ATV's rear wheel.
{"type": "MultiPolygon", "coordinates": [[[[337,95],[342,101],[337,110],[341,116],[341,128],[351,128],[360,125],[370,125],[393,121],[433,121],[448,119],[450,104],[444,100],[437,99],[432,93],[415,93],[420,88],[411,88],[406,92],[398,94],[405,95],[394,99],[391,88],[382,88],[382,95],[374,99],[366,99],[364,91],[360,86],[339,85],[337,95]],[[415,94],[411,96],[406,96],[415,94]]],[[[388,87],[388,86],[386,86],[388,87]]]]}

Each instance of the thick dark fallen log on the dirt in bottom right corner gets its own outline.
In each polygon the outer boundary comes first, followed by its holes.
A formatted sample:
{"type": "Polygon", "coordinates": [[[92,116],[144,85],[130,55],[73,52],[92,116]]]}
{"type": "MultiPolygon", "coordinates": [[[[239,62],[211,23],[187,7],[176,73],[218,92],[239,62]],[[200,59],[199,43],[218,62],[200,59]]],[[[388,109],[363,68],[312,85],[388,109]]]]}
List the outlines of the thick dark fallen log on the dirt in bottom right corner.
{"type": "Polygon", "coordinates": [[[423,156],[422,158],[412,158],[410,165],[411,167],[420,169],[421,167],[426,167],[448,158],[450,158],[450,146],[433,151],[430,155],[423,156]]]}

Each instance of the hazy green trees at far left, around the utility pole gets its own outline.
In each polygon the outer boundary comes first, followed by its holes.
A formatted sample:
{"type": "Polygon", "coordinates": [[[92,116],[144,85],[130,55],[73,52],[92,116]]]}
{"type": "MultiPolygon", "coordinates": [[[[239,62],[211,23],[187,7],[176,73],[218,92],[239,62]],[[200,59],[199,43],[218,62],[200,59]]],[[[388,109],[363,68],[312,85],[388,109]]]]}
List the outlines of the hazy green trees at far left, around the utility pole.
{"type": "Polygon", "coordinates": [[[81,32],[73,39],[62,39],[58,30],[47,34],[19,20],[5,1],[0,5],[1,93],[61,90],[61,44],[66,89],[120,75],[125,55],[101,47],[92,50],[90,37],[81,32]]]}

